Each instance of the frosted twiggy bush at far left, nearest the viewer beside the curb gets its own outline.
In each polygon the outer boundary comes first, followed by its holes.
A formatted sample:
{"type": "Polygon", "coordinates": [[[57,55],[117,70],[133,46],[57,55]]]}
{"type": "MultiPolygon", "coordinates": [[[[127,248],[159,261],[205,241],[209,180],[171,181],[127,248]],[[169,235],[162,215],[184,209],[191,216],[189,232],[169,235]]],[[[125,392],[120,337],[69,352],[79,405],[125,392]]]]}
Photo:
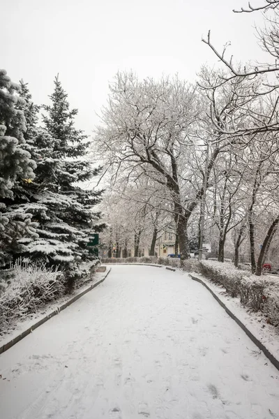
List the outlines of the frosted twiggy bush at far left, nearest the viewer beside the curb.
{"type": "Polygon", "coordinates": [[[57,269],[19,261],[13,273],[0,295],[0,332],[15,319],[38,311],[65,292],[65,279],[57,269]]]}

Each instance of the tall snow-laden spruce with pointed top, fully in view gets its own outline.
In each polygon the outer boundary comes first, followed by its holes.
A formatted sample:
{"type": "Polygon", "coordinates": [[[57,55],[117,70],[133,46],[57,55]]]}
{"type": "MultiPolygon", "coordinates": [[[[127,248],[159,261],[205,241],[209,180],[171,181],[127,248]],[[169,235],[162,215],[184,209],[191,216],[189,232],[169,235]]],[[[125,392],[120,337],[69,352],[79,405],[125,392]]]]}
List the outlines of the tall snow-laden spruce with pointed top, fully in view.
{"type": "Polygon", "coordinates": [[[25,197],[21,207],[33,214],[38,223],[38,238],[23,239],[25,256],[59,265],[70,271],[70,280],[77,274],[80,261],[89,258],[89,235],[103,226],[93,226],[100,214],[92,207],[100,200],[100,192],[86,191],[77,182],[89,180],[98,170],[85,161],[89,143],[82,131],[74,128],[77,110],[70,110],[67,94],[58,78],[54,81],[52,105],[43,106],[44,127],[38,128],[38,108],[32,105],[26,84],[22,84],[23,109],[27,119],[26,140],[35,156],[36,179],[23,184],[25,197]]]}

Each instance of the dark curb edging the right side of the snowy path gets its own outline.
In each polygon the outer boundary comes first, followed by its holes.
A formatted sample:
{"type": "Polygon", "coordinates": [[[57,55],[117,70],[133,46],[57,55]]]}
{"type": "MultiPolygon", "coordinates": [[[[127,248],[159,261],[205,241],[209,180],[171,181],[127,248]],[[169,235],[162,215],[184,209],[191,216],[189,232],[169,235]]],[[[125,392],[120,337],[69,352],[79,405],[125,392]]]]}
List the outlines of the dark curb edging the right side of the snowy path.
{"type": "Polygon", "coordinates": [[[216,301],[218,301],[218,303],[220,304],[221,307],[223,307],[223,309],[225,309],[225,311],[227,312],[227,314],[229,314],[229,316],[241,327],[241,329],[243,330],[243,332],[246,333],[246,335],[248,337],[250,337],[251,341],[254,342],[254,344],[259,348],[260,351],[262,351],[264,353],[264,355],[266,355],[266,358],[268,358],[271,362],[271,364],[274,365],[274,367],[276,367],[279,371],[279,361],[272,355],[272,353],[269,351],[268,348],[266,348],[266,346],[264,346],[264,344],[262,344],[261,341],[259,341],[259,339],[257,339],[257,337],[255,337],[252,332],[250,332],[250,330],[248,328],[246,328],[246,325],[244,325],[239,318],[237,318],[232,311],[230,311],[227,306],[223,303],[223,301],[220,300],[220,298],[216,295],[216,293],[214,293],[211,288],[204,282],[202,281],[202,279],[199,279],[197,277],[193,277],[193,275],[188,274],[189,277],[191,277],[194,281],[199,282],[199,284],[202,284],[203,286],[205,286],[205,288],[213,295],[213,297],[216,299],[216,301]]]}

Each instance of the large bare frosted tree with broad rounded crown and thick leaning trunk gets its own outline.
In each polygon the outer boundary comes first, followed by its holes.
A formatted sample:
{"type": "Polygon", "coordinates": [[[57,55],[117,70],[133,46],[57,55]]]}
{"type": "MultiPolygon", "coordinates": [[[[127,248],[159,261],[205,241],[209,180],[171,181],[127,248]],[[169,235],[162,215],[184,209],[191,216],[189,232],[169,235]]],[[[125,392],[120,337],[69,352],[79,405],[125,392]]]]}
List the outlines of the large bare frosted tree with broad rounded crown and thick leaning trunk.
{"type": "MultiPolygon", "coordinates": [[[[178,79],[140,82],[133,74],[119,73],[110,89],[103,124],[94,138],[95,152],[103,159],[104,170],[113,170],[115,179],[125,175],[126,182],[132,182],[144,176],[164,188],[176,216],[184,260],[189,257],[188,220],[203,193],[201,186],[193,197],[183,192],[187,183],[195,182],[188,170],[190,149],[195,145],[190,133],[202,108],[195,88],[178,79]]],[[[209,171],[211,167],[212,162],[209,171]]]]}

